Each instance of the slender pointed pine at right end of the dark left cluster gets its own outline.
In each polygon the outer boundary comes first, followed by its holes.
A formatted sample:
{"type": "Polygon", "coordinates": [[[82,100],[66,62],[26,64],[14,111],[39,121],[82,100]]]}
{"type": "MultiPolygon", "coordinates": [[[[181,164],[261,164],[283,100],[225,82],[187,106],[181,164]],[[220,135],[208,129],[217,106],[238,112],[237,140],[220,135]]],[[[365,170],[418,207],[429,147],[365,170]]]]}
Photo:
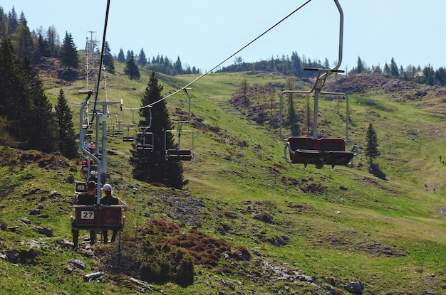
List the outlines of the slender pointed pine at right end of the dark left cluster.
{"type": "Polygon", "coordinates": [[[58,129],[58,151],[68,159],[76,159],[79,156],[79,148],[74,132],[73,114],[71,114],[63,90],[59,91],[58,103],[55,109],[58,129]]]}

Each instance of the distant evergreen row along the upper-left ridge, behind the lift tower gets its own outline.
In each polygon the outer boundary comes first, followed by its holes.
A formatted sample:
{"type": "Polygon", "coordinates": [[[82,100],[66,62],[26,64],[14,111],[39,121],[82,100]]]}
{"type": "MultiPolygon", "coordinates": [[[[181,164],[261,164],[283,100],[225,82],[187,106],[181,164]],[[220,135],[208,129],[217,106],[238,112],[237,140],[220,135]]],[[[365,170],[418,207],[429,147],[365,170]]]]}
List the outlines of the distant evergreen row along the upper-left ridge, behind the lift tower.
{"type": "MultiPolygon", "coordinates": [[[[50,26],[46,31],[43,28],[30,31],[23,11],[18,17],[14,6],[8,14],[5,14],[4,9],[0,6],[0,39],[3,38],[10,38],[19,58],[26,56],[34,65],[40,63],[44,58],[58,58],[61,65],[67,69],[66,73],[73,76],[76,75],[74,72],[80,70],[78,48],[71,33],[66,32],[61,42],[54,26],[50,26]]],[[[183,69],[180,57],[175,63],[172,63],[169,58],[157,55],[150,62],[147,60],[143,48],[139,55],[128,50],[127,56],[125,56],[121,48],[118,56],[113,56],[108,42],[105,41],[103,64],[109,73],[115,73],[115,60],[126,63],[125,73],[130,79],[136,80],[140,78],[138,65],[167,75],[199,73],[199,69],[195,66],[192,68],[187,66],[186,69],[183,69]]]]}

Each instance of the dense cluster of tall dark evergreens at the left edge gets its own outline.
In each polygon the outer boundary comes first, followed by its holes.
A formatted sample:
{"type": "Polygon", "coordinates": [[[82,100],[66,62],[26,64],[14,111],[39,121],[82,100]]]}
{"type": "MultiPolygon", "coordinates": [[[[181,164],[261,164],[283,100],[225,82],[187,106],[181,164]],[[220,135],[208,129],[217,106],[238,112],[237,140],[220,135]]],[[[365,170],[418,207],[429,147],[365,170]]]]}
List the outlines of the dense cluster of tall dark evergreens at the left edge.
{"type": "Polygon", "coordinates": [[[9,38],[0,43],[0,143],[63,156],[78,156],[73,117],[60,91],[58,104],[48,101],[28,57],[19,58],[9,38]]]}

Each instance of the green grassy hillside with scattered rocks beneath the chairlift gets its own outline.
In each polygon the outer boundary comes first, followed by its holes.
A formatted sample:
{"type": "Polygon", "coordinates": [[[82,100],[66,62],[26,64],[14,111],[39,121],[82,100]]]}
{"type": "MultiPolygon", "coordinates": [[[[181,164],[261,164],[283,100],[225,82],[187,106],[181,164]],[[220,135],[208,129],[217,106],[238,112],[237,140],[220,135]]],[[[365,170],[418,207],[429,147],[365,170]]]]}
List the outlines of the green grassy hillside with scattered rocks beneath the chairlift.
{"type": "MultiPolygon", "coordinates": [[[[101,90],[99,99],[123,99],[126,107],[138,107],[150,73],[142,70],[140,82],[122,73],[118,63],[117,74],[108,75],[106,94],[101,90]]],[[[169,95],[196,77],[160,75],[159,79],[169,95]]],[[[84,97],[77,92],[85,87],[84,81],[68,83],[48,75],[43,79],[53,102],[63,87],[78,124],[84,97]]],[[[310,89],[308,82],[296,80],[296,89],[310,89]]],[[[130,205],[122,260],[115,259],[117,245],[95,245],[93,251],[88,245],[78,250],[69,247],[73,184],[68,178],[80,178],[76,161],[61,165],[66,160],[58,156],[4,147],[1,252],[11,255],[13,250],[33,248],[37,256],[16,264],[0,260],[4,274],[0,290],[5,294],[161,290],[165,294],[361,294],[361,290],[362,294],[442,294],[446,225],[440,211],[446,208],[446,188],[439,157],[446,156],[442,149],[446,91],[370,76],[331,80],[326,90],[349,94],[348,148],[356,143],[361,153],[353,168],[316,169],[283,159],[276,122],[279,91],[285,83],[281,75],[234,73],[206,75],[191,86],[193,117],[184,129],[195,132],[195,159],[184,163],[189,181],[185,191],[133,180],[127,161],[130,144],[109,139],[108,149],[114,152],[108,158],[110,182],[130,205]],[[249,103],[234,107],[230,102],[245,80],[249,103]],[[271,117],[258,124],[253,117],[261,110],[271,117]],[[381,155],[374,162],[379,173],[369,172],[363,154],[369,123],[378,134],[381,155]],[[30,215],[39,204],[40,214],[30,215]],[[197,229],[207,235],[207,245],[214,250],[217,244],[212,239],[223,239],[232,252],[247,249],[250,257],[237,259],[220,252],[217,265],[195,265],[191,286],[136,281],[126,267],[130,245],[160,219],[190,235],[197,229]],[[42,233],[45,229],[53,235],[42,233]],[[73,266],[71,259],[80,259],[85,269],[73,266]],[[99,271],[105,272],[100,279],[84,281],[85,274],[99,271]]],[[[303,96],[298,103],[303,113],[306,99],[303,96]]],[[[172,119],[177,109],[187,111],[184,94],[170,97],[167,104],[172,119]]],[[[345,100],[321,97],[318,133],[345,136],[345,107],[345,100]]],[[[110,114],[111,123],[119,118],[132,121],[132,113],[120,112],[118,105],[110,107],[110,114]]]]}

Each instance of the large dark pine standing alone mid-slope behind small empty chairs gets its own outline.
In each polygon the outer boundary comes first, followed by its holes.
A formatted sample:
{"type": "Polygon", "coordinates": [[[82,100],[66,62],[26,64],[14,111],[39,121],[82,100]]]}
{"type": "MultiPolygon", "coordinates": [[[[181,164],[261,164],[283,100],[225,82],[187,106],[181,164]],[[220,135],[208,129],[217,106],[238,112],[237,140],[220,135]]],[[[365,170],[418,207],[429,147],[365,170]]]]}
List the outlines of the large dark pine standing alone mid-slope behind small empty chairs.
{"type": "MultiPolygon", "coordinates": [[[[133,165],[133,177],[146,183],[163,183],[165,186],[182,188],[183,168],[180,161],[166,161],[165,140],[168,146],[175,146],[173,136],[166,130],[172,129],[169,113],[165,100],[161,100],[162,85],[158,84],[155,72],[150,75],[150,80],[142,97],[142,106],[152,105],[152,132],[154,140],[153,151],[131,150],[130,164],[133,165]],[[165,138],[166,134],[166,138],[165,138]]],[[[147,126],[150,120],[150,110],[145,107],[140,109],[140,125],[147,126]]],[[[147,141],[147,139],[146,139],[147,141]]],[[[138,144],[142,144],[142,138],[137,139],[138,144]]]]}

